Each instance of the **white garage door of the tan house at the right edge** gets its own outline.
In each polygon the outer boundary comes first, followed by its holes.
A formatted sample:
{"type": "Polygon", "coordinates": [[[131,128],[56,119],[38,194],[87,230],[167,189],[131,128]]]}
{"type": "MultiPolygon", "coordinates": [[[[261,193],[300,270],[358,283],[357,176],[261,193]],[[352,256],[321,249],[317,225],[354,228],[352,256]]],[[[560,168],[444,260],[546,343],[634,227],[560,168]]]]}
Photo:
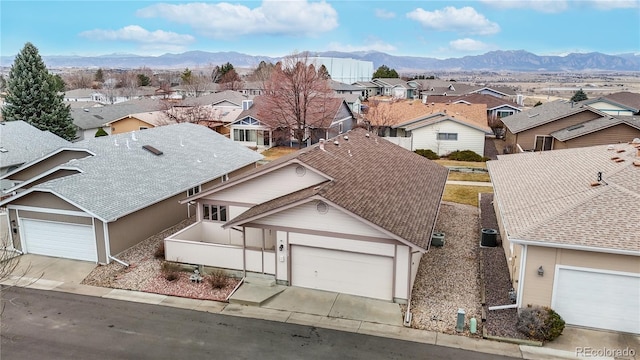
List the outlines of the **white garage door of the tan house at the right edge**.
{"type": "Polygon", "coordinates": [[[640,333],[640,277],[559,268],[552,307],[567,324],[640,333]]]}

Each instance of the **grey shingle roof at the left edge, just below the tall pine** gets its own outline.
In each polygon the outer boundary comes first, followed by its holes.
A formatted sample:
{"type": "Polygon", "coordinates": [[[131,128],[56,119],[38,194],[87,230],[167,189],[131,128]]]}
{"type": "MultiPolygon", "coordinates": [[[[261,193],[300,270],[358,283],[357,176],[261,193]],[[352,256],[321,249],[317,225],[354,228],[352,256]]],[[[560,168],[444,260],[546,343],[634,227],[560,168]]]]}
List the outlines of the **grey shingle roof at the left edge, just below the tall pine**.
{"type": "Polygon", "coordinates": [[[0,167],[19,166],[71,143],[24,121],[0,122],[0,167]]]}

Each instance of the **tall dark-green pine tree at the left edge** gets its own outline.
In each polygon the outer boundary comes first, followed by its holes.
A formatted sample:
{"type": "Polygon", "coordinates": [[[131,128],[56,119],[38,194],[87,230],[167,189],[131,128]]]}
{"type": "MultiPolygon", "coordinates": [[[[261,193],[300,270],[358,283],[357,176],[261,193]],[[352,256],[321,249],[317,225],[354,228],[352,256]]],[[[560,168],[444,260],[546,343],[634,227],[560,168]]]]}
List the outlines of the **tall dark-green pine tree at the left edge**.
{"type": "Polygon", "coordinates": [[[67,140],[76,137],[69,106],[56,91],[53,77],[33,44],[26,43],[14,59],[6,90],[5,121],[24,120],[67,140]]]}

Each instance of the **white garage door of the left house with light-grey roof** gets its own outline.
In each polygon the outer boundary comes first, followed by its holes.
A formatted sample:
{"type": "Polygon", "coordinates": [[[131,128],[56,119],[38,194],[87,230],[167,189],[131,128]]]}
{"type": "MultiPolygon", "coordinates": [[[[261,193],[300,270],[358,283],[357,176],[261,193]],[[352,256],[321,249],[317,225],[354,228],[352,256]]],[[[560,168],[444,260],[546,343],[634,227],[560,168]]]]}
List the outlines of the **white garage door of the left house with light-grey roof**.
{"type": "Polygon", "coordinates": [[[27,253],[98,261],[91,225],[22,219],[22,234],[27,253]]]}

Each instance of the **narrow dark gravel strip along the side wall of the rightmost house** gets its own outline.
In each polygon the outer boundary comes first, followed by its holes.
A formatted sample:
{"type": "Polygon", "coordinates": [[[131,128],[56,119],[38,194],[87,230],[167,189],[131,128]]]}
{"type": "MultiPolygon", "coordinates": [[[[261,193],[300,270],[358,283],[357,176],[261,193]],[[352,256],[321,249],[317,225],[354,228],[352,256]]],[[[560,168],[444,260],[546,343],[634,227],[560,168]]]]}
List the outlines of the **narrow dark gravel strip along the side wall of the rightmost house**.
{"type": "MultiPolygon", "coordinates": [[[[483,193],[480,197],[480,223],[482,228],[498,229],[498,220],[493,208],[493,194],[483,193]]],[[[509,277],[509,267],[501,246],[500,235],[498,235],[497,247],[483,247],[480,254],[483,261],[485,299],[487,320],[484,324],[488,335],[526,339],[516,328],[518,320],[517,309],[504,309],[489,311],[489,306],[511,304],[509,290],[511,290],[511,279],[509,277]]]]}

